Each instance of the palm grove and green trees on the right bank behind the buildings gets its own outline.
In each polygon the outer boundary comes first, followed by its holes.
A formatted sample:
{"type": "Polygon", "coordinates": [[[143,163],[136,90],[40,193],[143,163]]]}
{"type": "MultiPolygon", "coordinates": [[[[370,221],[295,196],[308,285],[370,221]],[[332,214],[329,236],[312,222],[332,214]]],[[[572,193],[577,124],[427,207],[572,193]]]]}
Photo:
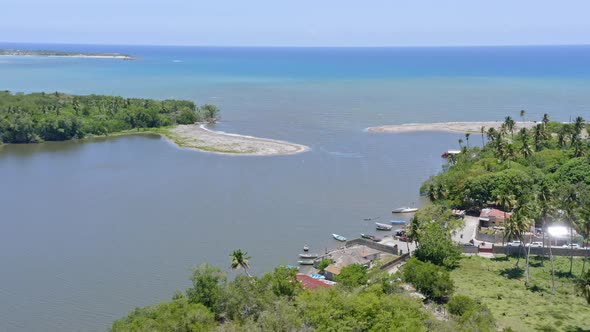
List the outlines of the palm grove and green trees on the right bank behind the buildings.
{"type": "MultiPolygon", "coordinates": [[[[523,124],[525,115],[525,111],[520,112],[523,124]]],[[[447,207],[473,212],[497,207],[512,212],[503,231],[505,240],[524,243],[525,234],[532,227],[541,227],[545,236],[550,223],[562,223],[570,228],[570,242],[574,242],[576,230],[583,245],[587,245],[590,144],[584,119],[576,117],[572,123],[558,123],[545,114],[528,129],[507,116],[499,129],[482,127],[480,134],[481,147],[469,144],[471,134],[465,134],[465,140],[459,139],[461,153],[450,156],[443,171],[428,179],[421,192],[432,202],[447,207]]],[[[548,249],[553,263],[551,246],[548,249]]],[[[575,249],[570,250],[571,275],[575,249]]],[[[524,253],[527,286],[529,252],[524,253]]],[[[518,263],[519,260],[516,267],[518,263]]],[[[586,257],[580,278],[585,276],[585,263],[586,257]]],[[[554,274],[553,264],[551,269],[554,274]]],[[[555,294],[555,282],[552,288],[555,294]]]]}

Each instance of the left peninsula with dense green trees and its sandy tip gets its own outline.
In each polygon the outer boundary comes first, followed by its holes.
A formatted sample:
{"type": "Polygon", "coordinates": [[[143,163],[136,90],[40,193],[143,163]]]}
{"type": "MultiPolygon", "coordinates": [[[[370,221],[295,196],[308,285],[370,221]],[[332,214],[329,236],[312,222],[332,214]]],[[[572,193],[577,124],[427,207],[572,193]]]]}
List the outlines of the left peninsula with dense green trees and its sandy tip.
{"type": "Polygon", "coordinates": [[[287,155],[304,145],[212,131],[215,105],[64,93],[0,92],[0,144],[157,133],[182,148],[231,155],[287,155]]]}

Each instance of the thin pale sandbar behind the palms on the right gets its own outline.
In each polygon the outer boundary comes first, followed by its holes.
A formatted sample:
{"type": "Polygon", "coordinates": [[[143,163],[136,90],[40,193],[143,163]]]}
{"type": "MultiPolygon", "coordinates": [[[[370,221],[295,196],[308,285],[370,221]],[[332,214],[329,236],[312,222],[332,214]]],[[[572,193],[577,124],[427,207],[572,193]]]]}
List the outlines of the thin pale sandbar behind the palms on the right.
{"type": "MultiPolygon", "coordinates": [[[[481,128],[484,130],[495,128],[499,130],[503,121],[478,121],[478,122],[437,122],[437,123],[406,123],[401,125],[387,125],[379,127],[369,127],[366,129],[372,133],[411,133],[418,131],[442,131],[450,133],[481,133],[481,128]]],[[[537,122],[522,122],[517,121],[514,130],[520,128],[532,128],[537,125],[537,122]]]]}

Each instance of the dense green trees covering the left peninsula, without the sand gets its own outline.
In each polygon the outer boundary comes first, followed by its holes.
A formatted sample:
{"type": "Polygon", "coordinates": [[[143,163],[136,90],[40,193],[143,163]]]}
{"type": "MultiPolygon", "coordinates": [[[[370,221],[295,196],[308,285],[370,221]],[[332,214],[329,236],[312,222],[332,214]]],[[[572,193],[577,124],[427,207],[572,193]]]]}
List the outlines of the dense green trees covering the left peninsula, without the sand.
{"type": "Polygon", "coordinates": [[[35,143],[215,121],[219,109],[187,100],[0,92],[0,143],[35,143]]]}

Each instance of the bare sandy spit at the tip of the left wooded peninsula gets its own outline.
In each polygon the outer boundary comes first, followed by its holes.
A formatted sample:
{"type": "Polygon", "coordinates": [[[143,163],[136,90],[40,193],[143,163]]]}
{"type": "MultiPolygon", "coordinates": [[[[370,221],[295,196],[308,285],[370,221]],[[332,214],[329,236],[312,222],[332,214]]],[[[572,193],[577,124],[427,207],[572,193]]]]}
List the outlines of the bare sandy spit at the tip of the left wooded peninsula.
{"type": "Polygon", "coordinates": [[[213,131],[203,124],[178,125],[166,136],[183,148],[220,154],[274,156],[309,150],[305,145],[285,141],[213,131]]]}

